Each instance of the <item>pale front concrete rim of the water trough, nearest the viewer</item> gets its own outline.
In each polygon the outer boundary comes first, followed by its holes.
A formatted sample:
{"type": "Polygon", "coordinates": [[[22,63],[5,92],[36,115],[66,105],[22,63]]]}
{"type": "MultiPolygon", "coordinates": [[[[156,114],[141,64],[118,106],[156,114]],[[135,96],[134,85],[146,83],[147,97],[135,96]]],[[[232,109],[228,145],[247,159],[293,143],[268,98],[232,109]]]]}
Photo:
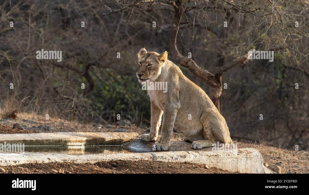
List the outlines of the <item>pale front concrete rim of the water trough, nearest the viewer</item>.
{"type": "Polygon", "coordinates": [[[44,154],[28,153],[1,155],[0,166],[25,163],[96,163],[110,160],[155,160],[163,162],[188,162],[207,164],[230,172],[239,173],[273,173],[263,165],[262,155],[254,148],[240,148],[231,151],[166,151],[146,153],[113,154],[44,154]]]}

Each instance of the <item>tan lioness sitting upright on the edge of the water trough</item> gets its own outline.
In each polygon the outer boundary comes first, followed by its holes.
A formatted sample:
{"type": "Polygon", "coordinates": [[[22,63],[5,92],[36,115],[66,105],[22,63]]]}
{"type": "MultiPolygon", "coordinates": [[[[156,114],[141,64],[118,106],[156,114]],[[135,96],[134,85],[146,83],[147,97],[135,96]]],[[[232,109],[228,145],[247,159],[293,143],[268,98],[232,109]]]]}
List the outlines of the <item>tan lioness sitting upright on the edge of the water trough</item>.
{"type": "Polygon", "coordinates": [[[166,93],[147,91],[151,102],[150,133],[143,134],[141,139],[156,141],[153,150],[168,149],[173,127],[185,136],[185,141],[192,141],[194,149],[211,147],[217,142],[233,143],[225,119],[214,103],[178,66],[167,60],[166,51],[159,54],[142,48],[138,52],[138,64],[136,76],[141,83],[147,80],[167,82],[166,93]],[[157,140],[162,114],[162,132],[157,140]]]}

